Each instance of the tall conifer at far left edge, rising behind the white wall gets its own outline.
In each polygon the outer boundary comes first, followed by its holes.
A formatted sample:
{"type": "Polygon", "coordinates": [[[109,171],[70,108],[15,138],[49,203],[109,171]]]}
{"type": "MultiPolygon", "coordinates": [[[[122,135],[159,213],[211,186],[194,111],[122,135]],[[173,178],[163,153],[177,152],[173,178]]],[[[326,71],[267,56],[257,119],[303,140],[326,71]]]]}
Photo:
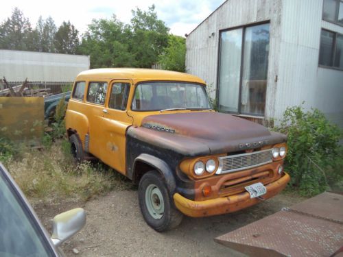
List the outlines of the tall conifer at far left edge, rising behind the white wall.
{"type": "Polygon", "coordinates": [[[23,12],[14,8],[12,16],[0,25],[0,48],[14,50],[31,50],[32,27],[23,12]]]}

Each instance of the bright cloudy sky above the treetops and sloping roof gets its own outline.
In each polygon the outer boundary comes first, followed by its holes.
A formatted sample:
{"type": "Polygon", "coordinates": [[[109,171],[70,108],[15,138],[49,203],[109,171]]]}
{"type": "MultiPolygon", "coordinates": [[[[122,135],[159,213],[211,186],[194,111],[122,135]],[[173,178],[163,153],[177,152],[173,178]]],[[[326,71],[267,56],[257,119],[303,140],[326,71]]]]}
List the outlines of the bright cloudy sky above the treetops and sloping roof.
{"type": "MultiPolygon", "coordinates": [[[[36,26],[39,16],[46,19],[51,16],[56,26],[62,21],[71,21],[82,34],[92,19],[106,19],[113,14],[124,22],[129,23],[132,17],[131,10],[140,8],[147,10],[152,4],[158,19],[161,19],[170,28],[171,34],[185,36],[206,19],[211,12],[225,0],[11,0],[2,1],[1,17],[12,14],[17,7],[24,16],[29,18],[32,27],[36,26]]],[[[0,19],[0,22],[2,22],[0,19]]]]}

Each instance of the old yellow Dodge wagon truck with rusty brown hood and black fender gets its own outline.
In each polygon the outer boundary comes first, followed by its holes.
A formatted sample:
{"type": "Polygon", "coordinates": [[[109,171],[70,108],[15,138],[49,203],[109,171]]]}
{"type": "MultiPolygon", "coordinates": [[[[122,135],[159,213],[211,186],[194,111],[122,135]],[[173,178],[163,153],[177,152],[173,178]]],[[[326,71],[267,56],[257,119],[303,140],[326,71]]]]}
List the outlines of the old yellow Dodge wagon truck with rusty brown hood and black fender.
{"type": "Polygon", "coordinates": [[[66,114],[75,158],[98,158],[139,184],[159,232],[182,214],[235,212],[285,188],[286,136],[215,112],[202,79],[151,69],[94,69],[76,77],[66,114]]]}

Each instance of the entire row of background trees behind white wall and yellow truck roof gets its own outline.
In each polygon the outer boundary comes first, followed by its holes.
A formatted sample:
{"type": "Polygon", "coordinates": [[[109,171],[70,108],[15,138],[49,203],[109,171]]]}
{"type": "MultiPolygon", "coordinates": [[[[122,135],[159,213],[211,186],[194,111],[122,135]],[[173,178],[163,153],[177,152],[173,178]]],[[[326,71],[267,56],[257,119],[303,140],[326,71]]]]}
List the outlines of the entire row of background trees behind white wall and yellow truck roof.
{"type": "Polygon", "coordinates": [[[185,38],[169,35],[154,5],[132,10],[128,24],[115,14],[110,19],[95,19],[80,38],[70,21],[57,27],[51,17],[40,16],[32,29],[29,19],[15,8],[0,24],[0,49],[78,53],[91,56],[91,68],[151,68],[161,62],[164,69],[185,71],[185,38]]]}

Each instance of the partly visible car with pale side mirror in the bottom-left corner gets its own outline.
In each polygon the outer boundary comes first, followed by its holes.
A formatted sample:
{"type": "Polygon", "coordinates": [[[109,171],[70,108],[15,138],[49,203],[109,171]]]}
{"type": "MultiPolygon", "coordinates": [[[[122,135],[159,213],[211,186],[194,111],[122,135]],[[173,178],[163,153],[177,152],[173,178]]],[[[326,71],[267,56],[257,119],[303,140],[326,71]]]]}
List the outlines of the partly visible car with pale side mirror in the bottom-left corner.
{"type": "Polygon", "coordinates": [[[0,162],[0,256],[64,256],[59,245],[86,223],[82,208],[53,219],[49,238],[27,199],[0,162]]]}

